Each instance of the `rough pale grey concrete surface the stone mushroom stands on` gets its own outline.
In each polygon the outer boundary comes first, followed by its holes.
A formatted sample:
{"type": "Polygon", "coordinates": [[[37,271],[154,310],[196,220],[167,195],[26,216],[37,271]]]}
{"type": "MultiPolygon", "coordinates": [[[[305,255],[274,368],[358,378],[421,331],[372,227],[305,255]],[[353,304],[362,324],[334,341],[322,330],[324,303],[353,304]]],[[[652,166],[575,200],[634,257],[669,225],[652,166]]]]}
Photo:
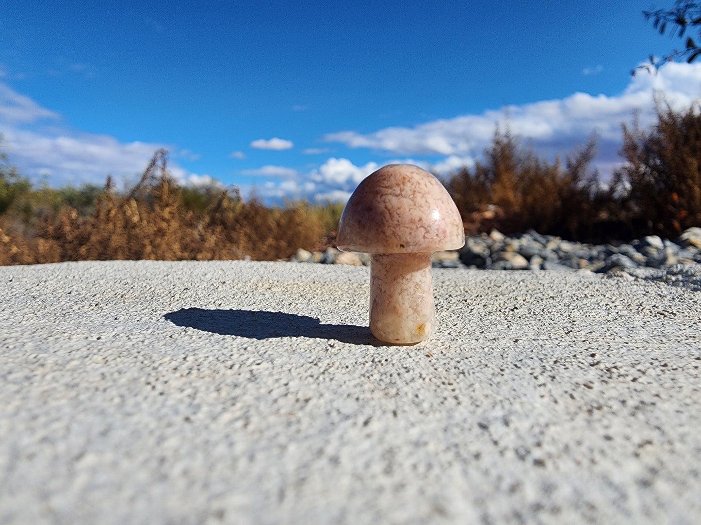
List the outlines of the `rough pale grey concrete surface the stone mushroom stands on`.
{"type": "Polygon", "coordinates": [[[701,523],[701,293],[366,267],[0,267],[0,523],[701,523]]]}

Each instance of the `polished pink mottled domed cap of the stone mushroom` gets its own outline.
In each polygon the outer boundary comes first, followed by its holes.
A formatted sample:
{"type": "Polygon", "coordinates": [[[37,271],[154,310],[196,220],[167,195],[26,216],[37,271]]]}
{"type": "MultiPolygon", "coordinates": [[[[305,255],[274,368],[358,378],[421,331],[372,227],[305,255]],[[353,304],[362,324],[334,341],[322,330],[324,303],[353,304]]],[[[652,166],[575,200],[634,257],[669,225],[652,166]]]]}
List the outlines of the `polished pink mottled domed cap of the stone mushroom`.
{"type": "Polygon", "coordinates": [[[391,164],[367,176],[348,200],[336,236],[339,250],[426,253],[465,244],[458,208],[433,175],[391,164]]]}

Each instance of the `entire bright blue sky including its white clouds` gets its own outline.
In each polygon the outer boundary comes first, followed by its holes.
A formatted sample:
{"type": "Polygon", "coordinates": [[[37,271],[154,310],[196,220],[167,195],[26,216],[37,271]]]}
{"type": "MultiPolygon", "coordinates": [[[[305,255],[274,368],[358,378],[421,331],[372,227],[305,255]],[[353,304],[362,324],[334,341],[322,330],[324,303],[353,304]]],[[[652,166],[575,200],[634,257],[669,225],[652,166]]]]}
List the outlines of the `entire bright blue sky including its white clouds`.
{"type": "Polygon", "coordinates": [[[597,132],[606,176],[655,90],[679,107],[701,93],[695,64],[630,76],[681,45],[651,6],[5,0],[2,148],[52,186],[126,184],[165,147],[184,183],[343,200],[389,162],[472,165],[508,118],[551,158],[597,132]]]}

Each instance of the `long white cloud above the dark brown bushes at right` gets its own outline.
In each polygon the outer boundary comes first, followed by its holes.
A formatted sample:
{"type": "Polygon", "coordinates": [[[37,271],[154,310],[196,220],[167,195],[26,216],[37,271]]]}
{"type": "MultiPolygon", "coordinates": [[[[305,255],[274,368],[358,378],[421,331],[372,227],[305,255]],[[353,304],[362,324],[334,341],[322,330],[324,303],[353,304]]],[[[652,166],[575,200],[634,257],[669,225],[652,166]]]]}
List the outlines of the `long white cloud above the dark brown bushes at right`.
{"type": "Polygon", "coordinates": [[[608,155],[597,159],[604,174],[620,147],[621,124],[630,122],[638,110],[642,126],[654,122],[656,92],[664,93],[667,102],[676,109],[688,107],[701,94],[701,64],[672,62],[656,74],[639,71],[625,91],[615,96],[578,92],[564,99],[505,106],[479,115],[434,120],[414,127],[387,127],[369,134],[342,131],[324,138],[350,148],[472,158],[489,146],[496,125],[504,130],[508,124],[514,134],[529,139],[538,151],[548,155],[571,151],[572,146],[585,143],[592,132],[597,132],[600,151],[608,155]]]}

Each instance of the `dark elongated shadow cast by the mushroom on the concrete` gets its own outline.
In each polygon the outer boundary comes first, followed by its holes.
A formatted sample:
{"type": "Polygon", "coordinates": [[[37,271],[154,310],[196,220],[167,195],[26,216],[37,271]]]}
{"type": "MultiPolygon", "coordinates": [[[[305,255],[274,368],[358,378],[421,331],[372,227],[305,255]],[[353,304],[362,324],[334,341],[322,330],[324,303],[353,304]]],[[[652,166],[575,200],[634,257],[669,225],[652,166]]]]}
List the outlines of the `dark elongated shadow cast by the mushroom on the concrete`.
{"type": "Polygon", "coordinates": [[[322,324],[318,318],[284,311],[182,308],[163,316],[178,326],[249,339],[318,337],[352,344],[387,346],[367,326],[322,324]]]}

